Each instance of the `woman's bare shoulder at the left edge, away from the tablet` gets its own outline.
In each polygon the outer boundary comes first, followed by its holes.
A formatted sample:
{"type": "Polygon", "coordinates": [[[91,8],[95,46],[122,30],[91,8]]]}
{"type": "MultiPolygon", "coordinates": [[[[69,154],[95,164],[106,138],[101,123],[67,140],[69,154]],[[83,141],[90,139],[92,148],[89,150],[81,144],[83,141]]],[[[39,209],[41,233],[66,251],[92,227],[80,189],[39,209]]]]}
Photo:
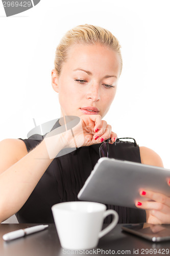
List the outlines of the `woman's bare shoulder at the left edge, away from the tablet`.
{"type": "Polygon", "coordinates": [[[0,174],[28,154],[26,144],[19,139],[0,142],[0,174]]]}

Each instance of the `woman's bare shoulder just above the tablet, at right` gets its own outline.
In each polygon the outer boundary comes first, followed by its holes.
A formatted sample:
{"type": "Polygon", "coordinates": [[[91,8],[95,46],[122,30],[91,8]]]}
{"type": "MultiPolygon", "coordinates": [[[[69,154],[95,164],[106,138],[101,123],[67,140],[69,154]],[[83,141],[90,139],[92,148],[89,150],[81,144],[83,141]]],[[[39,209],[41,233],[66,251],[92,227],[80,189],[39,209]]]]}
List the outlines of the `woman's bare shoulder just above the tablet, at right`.
{"type": "Polygon", "coordinates": [[[155,151],[151,150],[151,148],[140,146],[139,151],[141,163],[163,167],[162,159],[155,151]]]}

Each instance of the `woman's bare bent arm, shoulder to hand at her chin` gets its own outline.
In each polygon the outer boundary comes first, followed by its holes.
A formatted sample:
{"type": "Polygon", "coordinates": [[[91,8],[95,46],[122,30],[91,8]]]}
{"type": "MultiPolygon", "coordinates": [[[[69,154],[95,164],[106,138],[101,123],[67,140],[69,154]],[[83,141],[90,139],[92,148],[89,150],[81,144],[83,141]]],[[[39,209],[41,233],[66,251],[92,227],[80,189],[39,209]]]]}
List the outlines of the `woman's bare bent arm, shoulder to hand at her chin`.
{"type": "Polygon", "coordinates": [[[25,204],[63,148],[75,147],[75,143],[77,147],[90,146],[110,137],[113,143],[117,135],[100,115],[83,115],[72,132],[57,134],[57,129],[53,130],[29,153],[23,141],[7,139],[0,142],[0,223],[25,204]]]}

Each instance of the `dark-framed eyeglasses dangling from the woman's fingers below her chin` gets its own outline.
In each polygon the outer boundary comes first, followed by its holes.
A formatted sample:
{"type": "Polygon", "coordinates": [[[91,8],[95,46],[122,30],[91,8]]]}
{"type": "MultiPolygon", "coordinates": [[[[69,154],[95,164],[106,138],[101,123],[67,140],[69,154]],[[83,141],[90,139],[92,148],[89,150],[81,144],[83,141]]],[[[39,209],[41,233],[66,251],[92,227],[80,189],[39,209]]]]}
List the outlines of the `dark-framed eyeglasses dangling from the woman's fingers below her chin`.
{"type": "MultiPolygon", "coordinates": [[[[119,143],[119,142],[121,142],[120,141],[120,139],[121,140],[133,140],[133,142],[132,141],[125,141],[125,143],[127,142],[127,143],[134,143],[134,146],[137,146],[137,143],[136,143],[136,140],[135,139],[133,139],[133,138],[117,138],[116,139],[116,141],[114,142],[115,144],[116,143],[119,143]]],[[[107,140],[105,140],[104,142],[102,142],[102,144],[100,145],[100,147],[99,147],[99,155],[100,155],[100,158],[101,157],[108,157],[109,158],[109,141],[111,140],[111,138],[109,138],[109,139],[107,139],[107,140]]]]}

